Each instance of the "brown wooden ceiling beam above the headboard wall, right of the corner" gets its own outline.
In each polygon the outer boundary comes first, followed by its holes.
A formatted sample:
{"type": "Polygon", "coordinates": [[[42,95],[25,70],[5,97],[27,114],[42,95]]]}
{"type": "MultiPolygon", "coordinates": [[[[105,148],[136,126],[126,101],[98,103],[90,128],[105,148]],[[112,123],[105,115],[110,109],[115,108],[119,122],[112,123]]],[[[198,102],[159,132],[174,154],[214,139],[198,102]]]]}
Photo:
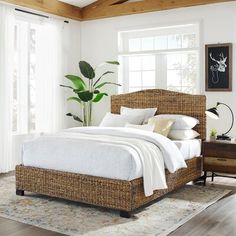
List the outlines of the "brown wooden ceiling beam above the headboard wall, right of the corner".
{"type": "MultiPolygon", "coordinates": [[[[236,1],[236,0],[233,0],[236,1]]],[[[140,0],[114,4],[114,0],[98,0],[82,9],[82,20],[95,20],[114,16],[162,11],[182,7],[199,6],[232,0],[140,0]],[[114,5],[112,5],[114,4],[114,5]]],[[[122,1],[121,1],[122,2],[122,1]]]]}

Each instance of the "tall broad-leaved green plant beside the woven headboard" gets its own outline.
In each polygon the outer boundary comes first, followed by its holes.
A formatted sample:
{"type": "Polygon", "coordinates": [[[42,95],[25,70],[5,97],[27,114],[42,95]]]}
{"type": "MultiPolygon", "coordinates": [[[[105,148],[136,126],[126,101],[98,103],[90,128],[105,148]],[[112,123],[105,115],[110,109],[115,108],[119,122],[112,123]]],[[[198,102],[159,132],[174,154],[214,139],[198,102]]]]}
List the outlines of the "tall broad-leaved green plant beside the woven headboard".
{"type": "MultiPolygon", "coordinates": [[[[101,64],[99,67],[104,66],[106,64],[119,65],[119,62],[107,61],[101,64]]],[[[104,88],[104,86],[106,85],[121,85],[113,82],[102,81],[104,76],[108,74],[113,74],[113,71],[106,71],[102,75],[96,76],[96,69],[94,69],[86,61],[79,62],[79,69],[81,75],[84,78],[81,78],[77,75],[66,75],[65,77],[72,82],[72,86],[60,86],[64,88],[69,88],[75,93],[75,96],[69,97],[67,101],[75,101],[79,103],[83,110],[83,118],[80,118],[79,116],[74,115],[72,113],[68,113],[67,116],[71,116],[74,120],[83,123],[83,126],[90,126],[92,124],[93,103],[98,103],[105,96],[108,96],[108,93],[101,91],[101,89],[104,88]]]]}

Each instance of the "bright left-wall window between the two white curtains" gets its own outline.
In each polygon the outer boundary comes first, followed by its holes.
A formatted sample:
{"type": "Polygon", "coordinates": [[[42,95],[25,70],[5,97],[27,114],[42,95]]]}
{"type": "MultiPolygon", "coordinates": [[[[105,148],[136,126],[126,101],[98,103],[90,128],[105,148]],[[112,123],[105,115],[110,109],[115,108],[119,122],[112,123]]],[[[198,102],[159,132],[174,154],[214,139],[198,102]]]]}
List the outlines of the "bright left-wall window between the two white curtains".
{"type": "Polygon", "coordinates": [[[17,20],[13,78],[13,132],[35,132],[36,35],[40,24],[17,20]]]}

